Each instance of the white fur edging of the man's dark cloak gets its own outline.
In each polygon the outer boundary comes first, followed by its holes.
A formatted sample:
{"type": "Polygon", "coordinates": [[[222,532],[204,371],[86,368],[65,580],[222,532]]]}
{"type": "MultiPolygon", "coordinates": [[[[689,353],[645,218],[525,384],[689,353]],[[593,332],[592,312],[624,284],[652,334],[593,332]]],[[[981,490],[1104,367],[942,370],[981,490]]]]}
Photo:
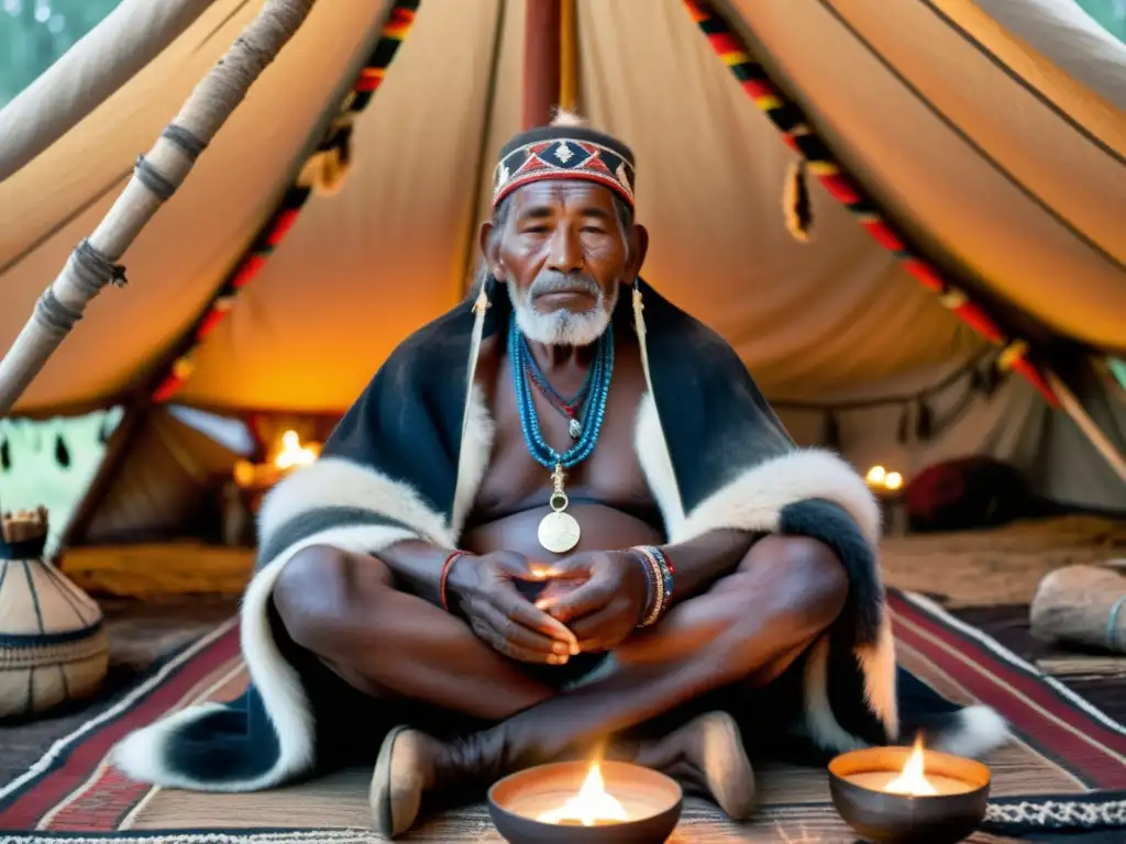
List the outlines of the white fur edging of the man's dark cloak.
{"type": "MultiPolygon", "coordinates": [[[[467,415],[449,521],[409,485],[339,458],[323,458],[295,473],[263,502],[259,519],[263,556],[242,602],[241,637],[251,680],[277,738],[278,752],[268,766],[249,776],[202,781],[170,762],[169,748],[177,744],[176,739],[182,738],[194,725],[220,718],[223,710],[220,704],[188,709],[133,733],[115,748],[115,764],[140,781],[211,791],[270,788],[310,771],[316,761],[315,724],[301,679],[274,640],[267,612],[274,585],[294,555],[313,545],[377,553],[402,539],[425,538],[439,546],[456,547],[464,519],[483,481],[494,437],[492,419],[477,389],[471,392],[467,415]]],[[[763,463],[686,514],[651,395],[644,397],[638,411],[635,447],[665,518],[671,542],[722,527],[787,532],[788,524],[801,522],[802,513],[794,508],[813,499],[828,501],[847,513],[858,526],[859,544],[874,548],[878,541],[878,508],[866,485],[829,452],[795,450],[763,463]]],[[[858,646],[856,655],[868,706],[887,734],[896,736],[894,644],[882,604],[878,571],[874,563],[868,568],[872,582],[867,589],[869,593],[878,591],[879,595],[878,631],[873,628],[870,640],[858,646]]],[[[829,704],[826,650],[819,658],[824,647],[826,644],[814,649],[806,670],[805,726],[822,746],[843,751],[863,743],[840,726],[829,704]]],[[[936,735],[944,746],[967,755],[984,753],[1003,739],[1003,722],[984,707],[964,709],[949,721],[936,735]]]]}

